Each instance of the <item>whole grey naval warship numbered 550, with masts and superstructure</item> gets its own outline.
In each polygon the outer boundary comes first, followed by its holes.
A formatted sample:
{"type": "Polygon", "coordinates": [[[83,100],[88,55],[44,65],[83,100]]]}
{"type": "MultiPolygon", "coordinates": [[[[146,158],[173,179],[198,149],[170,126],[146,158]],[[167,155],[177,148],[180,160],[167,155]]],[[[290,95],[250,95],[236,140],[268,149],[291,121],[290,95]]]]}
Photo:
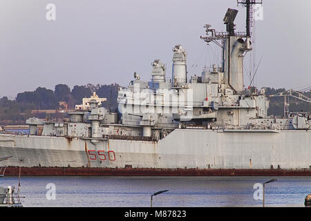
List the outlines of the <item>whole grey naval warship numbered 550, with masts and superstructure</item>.
{"type": "Polygon", "coordinates": [[[155,59],[151,81],[135,73],[118,91],[118,110],[88,101],[65,122],[30,118],[28,135],[0,134],[0,166],[23,175],[311,175],[311,114],[267,115],[265,90],[245,90],[243,59],[252,50],[250,11],[236,32],[229,8],[226,31],[205,25],[207,44],[222,52],[188,77],[187,51],[173,47],[172,75],[155,59]],[[37,134],[39,125],[44,125],[37,134]]]}

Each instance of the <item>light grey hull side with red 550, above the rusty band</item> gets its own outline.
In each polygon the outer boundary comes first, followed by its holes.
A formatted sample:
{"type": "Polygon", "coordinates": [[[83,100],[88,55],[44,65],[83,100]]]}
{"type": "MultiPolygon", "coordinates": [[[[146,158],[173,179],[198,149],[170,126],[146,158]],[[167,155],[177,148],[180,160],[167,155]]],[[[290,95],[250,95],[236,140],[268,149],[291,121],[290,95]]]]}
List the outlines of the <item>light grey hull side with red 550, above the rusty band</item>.
{"type": "Polygon", "coordinates": [[[176,129],[158,142],[1,134],[0,153],[12,157],[0,166],[41,168],[41,173],[43,168],[181,169],[193,175],[279,169],[311,175],[310,144],[310,131],[176,129]]]}

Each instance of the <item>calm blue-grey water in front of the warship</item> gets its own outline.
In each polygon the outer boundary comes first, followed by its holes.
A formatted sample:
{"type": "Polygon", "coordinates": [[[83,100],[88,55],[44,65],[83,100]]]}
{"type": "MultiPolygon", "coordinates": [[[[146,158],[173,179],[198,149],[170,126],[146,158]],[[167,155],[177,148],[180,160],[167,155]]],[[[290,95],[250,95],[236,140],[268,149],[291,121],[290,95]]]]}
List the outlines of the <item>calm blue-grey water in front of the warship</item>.
{"type": "MultiPolygon", "coordinates": [[[[266,184],[266,206],[304,206],[311,193],[311,177],[111,177],[22,176],[23,206],[261,206],[254,200],[254,184],[266,184]],[[55,200],[46,185],[55,184],[55,200]],[[48,194],[48,196],[50,196],[48,194]]],[[[0,178],[0,186],[18,186],[17,176],[0,178]]],[[[256,195],[256,194],[255,194],[256,195]]]]}

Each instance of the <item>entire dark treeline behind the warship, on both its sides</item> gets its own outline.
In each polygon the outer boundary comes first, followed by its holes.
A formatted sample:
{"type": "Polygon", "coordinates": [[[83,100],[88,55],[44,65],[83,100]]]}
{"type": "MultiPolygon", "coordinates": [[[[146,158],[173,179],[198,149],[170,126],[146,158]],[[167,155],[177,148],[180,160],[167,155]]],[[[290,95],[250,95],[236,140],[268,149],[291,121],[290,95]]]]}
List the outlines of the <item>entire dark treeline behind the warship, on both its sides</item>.
{"type": "MultiPolygon", "coordinates": [[[[117,108],[117,90],[119,85],[93,85],[74,86],[71,90],[66,84],[57,84],[54,90],[38,87],[34,91],[18,93],[15,100],[8,97],[0,98],[0,125],[25,124],[29,117],[53,118],[55,115],[39,113],[34,115],[32,110],[59,109],[59,102],[66,102],[68,108],[74,108],[76,104],[82,104],[84,97],[90,97],[93,92],[99,97],[106,97],[107,101],[102,104],[105,108],[117,108]]],[[[256,89],[256,88],[252,88],[256,89]]],[[[285,88],[265,88],[265,95],[274,95],[285,91],[285,88]]],[[[311,91],[303,95],[311,97],[311,91]]],[[[311,104],[290,97],[290,111],[311,111],[311,104]]],[[[281,116],[284,113],[284,97],[270,97],[268,115],[281,116]]],[[[57,116],[56,116],[57,117],[57,116]]]]}

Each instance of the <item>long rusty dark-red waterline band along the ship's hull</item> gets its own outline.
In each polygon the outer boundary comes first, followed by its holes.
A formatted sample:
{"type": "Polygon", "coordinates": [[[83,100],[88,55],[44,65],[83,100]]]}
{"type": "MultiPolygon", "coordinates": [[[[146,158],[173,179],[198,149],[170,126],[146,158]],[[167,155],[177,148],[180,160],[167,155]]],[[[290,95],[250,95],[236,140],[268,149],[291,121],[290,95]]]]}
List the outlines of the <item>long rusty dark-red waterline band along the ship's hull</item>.
{"type": "MultiPolygon", "coordinates": [[[[18,175],[18,166],[8,166],[6,175],[18,175]]],[[[109,176],[311,176],[310,169],[111,169],[89,167],[22,167],[21,175],[109,176]]]]}

